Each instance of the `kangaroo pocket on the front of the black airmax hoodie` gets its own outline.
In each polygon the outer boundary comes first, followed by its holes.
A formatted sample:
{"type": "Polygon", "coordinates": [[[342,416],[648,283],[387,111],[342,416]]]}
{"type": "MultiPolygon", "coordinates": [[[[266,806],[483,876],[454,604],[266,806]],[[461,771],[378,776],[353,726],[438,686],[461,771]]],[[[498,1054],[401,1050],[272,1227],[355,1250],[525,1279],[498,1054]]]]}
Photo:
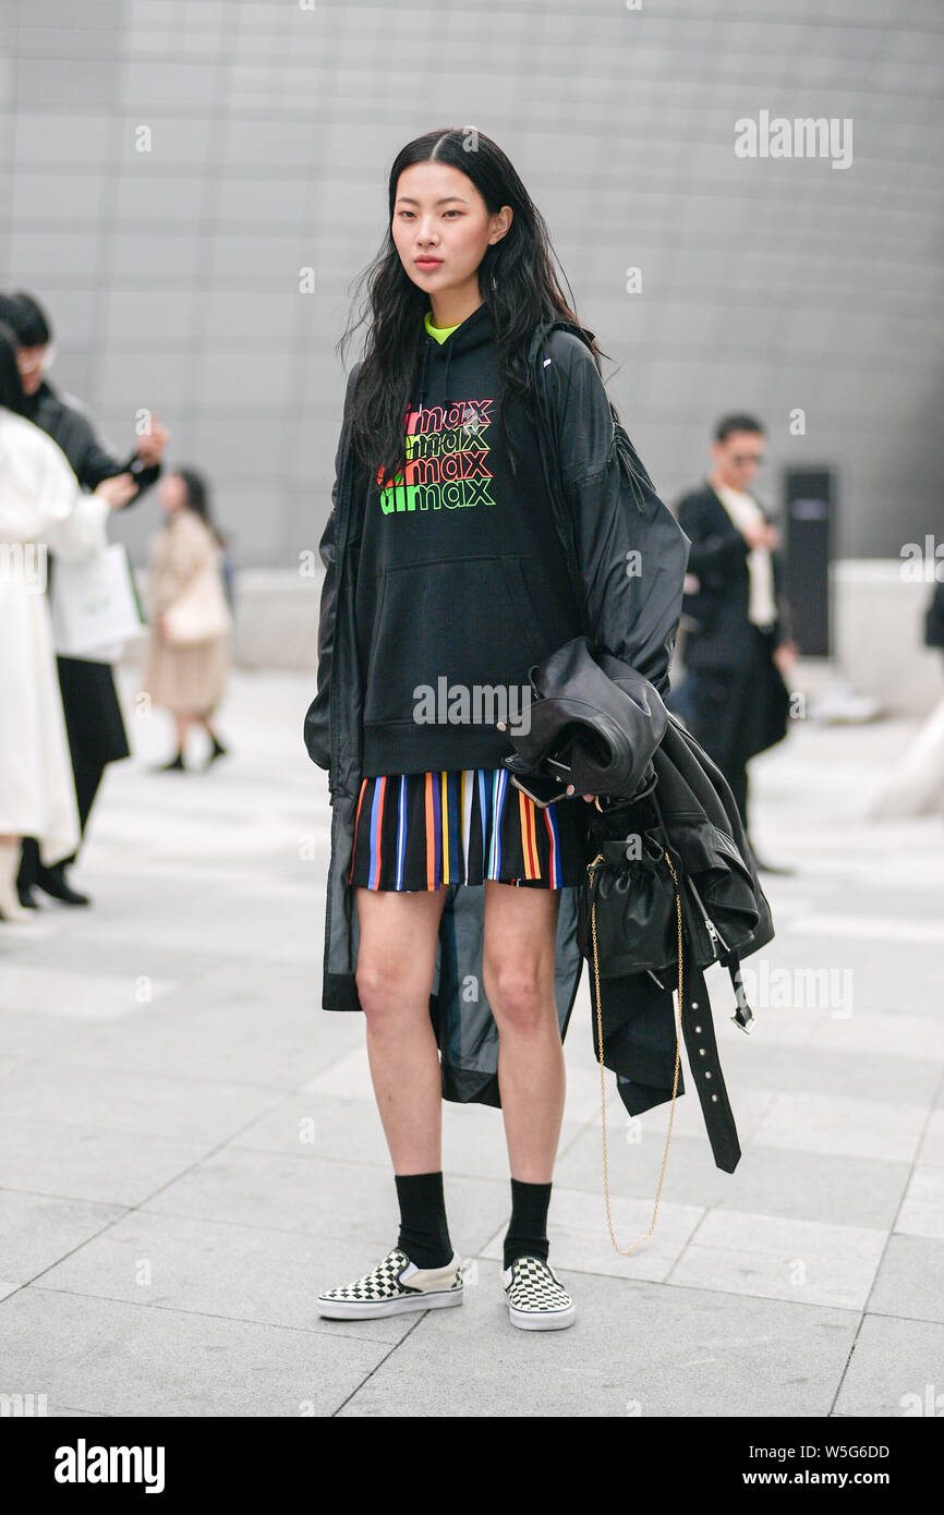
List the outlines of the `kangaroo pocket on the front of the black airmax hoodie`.
{"type": "Polygon", "coordinates": [[[503,697],[514,712],[508,686],[529,689],[529,668],[547,651],[520,558],[492,554],[388,568],[368,653],[364,720],[411,723],[424,697],[421,686],[441,697],[439,680],[445,679],[447,688],[465,689],[473,700],[473,686],[492,688],[495,695],[482,695],[479,709],[494,724],[503,718],[503,697]]]}

